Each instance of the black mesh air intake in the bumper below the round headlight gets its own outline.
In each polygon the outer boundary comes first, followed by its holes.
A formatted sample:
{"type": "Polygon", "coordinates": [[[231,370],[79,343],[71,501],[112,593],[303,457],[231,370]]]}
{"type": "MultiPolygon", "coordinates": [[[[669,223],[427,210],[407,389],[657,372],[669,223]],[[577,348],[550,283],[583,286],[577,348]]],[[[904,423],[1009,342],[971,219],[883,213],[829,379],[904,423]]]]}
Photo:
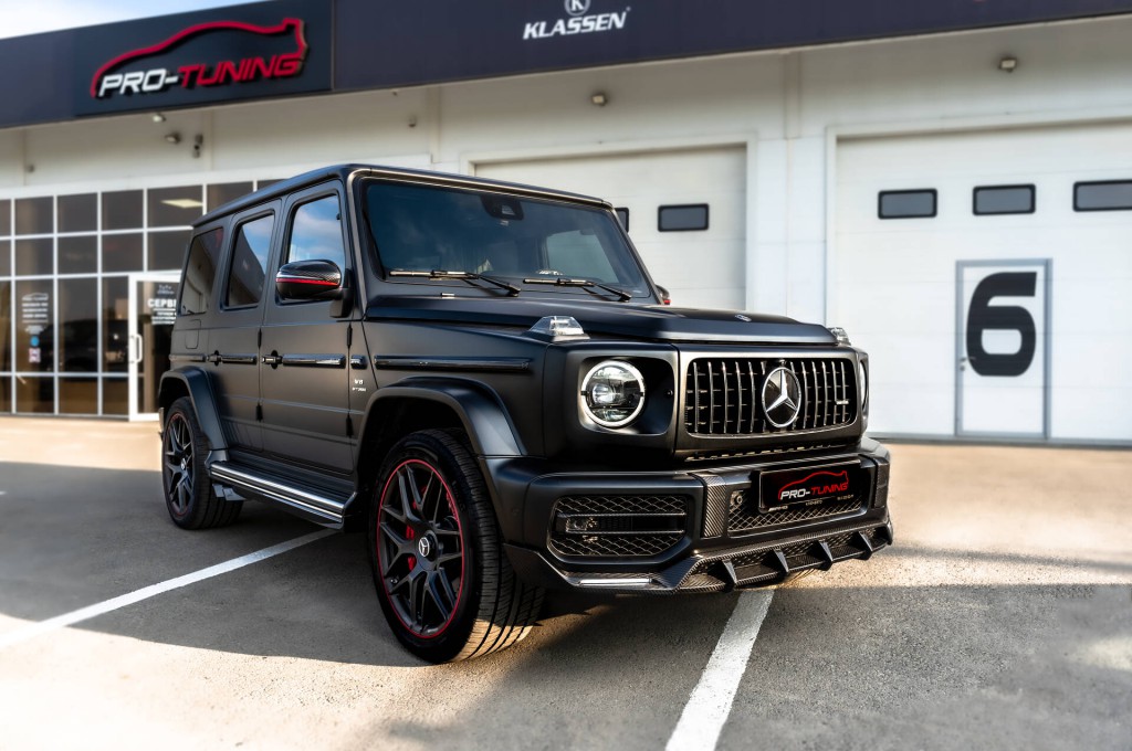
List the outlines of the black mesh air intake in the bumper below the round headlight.
{"type": "Polygon", "coordinates": [[[568,495],[555,503],[550,547],[567,558],[652,558],[684,538],[686,495],[568,495]]]}

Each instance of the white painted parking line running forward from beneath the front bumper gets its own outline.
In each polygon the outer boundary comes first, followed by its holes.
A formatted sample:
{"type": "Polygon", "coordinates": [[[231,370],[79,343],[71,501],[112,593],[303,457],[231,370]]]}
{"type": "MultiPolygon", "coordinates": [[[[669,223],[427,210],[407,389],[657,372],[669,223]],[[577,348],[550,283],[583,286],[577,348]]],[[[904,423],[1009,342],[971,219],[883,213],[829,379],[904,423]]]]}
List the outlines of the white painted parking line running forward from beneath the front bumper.
{"type": "Polygon", "coordinates": [[[772,589],[745,592],[739,595],[723,635],[707,661],[700,683],[692,690],[688,703],[668,739],[667,751],[705,751],[714,749],[723,723],[731,714],[735,692],[747,670],[751,649],[774,596],[772,589]]]}

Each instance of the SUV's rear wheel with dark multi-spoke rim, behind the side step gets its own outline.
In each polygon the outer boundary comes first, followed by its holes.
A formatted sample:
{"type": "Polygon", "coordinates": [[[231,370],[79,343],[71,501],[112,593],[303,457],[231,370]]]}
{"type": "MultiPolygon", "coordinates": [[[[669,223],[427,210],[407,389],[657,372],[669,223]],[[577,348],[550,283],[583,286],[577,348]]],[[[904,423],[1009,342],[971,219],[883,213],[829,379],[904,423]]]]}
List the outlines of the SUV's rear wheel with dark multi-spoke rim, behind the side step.
{"type": "Polygon", "coordinates": [[[208,443],[197,422],[192,402],[181,397],[169,408],[161,438],[161,485],[173,523],[185,529],[208,529],[232,524],[243,501],[225,501],[213,493],[205,457],[208,443]]]}

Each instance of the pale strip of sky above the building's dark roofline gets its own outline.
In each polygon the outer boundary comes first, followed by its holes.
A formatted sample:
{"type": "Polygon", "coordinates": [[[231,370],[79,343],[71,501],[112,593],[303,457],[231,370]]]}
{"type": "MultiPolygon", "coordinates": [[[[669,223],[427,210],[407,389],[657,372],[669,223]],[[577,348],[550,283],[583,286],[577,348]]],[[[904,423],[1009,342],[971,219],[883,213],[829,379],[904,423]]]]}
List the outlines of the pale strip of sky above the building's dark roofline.
{"type": "Polygon", "coordinates": [[[0,0],[0,38],[168,16],[247,0],[0,0]]]}

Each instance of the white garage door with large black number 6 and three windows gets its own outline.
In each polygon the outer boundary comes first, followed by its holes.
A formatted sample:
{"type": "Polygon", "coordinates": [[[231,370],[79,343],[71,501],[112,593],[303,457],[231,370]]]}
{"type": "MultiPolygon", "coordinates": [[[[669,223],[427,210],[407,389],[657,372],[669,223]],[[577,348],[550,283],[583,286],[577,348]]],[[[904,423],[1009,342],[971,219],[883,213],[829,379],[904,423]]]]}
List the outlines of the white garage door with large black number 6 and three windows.
{"type": "Polygon", "coordinates": [[[874,432],[1132,440],[1132,126],[842,141],[874,432]]]}

